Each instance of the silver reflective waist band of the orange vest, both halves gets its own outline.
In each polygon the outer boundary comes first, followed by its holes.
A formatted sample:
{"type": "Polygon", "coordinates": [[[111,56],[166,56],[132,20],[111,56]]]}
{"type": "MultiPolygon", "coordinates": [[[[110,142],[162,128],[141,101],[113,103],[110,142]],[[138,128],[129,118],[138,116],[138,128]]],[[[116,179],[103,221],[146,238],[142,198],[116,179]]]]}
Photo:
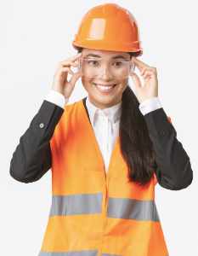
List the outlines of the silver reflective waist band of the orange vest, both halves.
{"type": "MultiPolygon", "coordinates": [[[[49,215],[101,213],[102,196],[102,193],[53,195],[49,215]]],[[[110,197],[107,217],[160,221],[155,201],[140,201],[128,198],[110,197]]]]}

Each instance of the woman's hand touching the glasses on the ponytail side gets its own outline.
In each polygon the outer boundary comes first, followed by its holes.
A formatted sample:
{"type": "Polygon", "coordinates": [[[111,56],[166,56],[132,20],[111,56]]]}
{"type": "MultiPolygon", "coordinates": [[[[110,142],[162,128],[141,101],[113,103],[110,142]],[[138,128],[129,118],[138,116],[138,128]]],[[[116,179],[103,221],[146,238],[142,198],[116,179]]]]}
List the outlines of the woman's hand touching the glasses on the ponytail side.
{"type": "Polygon", "coordinates": [[[136,57],[132,57],[132,61],[139,68],[140,74],[144,79],[144,86],[139,79],[137,73],[131,72],[130,76],[133,79],[136,96],[139,103],[144,102],[152,97],[158,96],[158,80],[156,67],[150,67],[143,61],[139,61],[136,57]]]}

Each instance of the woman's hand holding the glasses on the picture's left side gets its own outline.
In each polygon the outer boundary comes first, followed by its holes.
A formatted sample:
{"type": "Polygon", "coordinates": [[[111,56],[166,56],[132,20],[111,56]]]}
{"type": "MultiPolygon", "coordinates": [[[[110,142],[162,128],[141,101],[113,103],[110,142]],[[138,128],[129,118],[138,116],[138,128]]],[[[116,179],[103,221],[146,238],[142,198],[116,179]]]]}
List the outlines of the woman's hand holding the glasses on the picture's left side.
{"type": "Polygon", "coordinates": [[[77,79],[82,75],[81,71],[73,73],[71,70],[71,66],[78,66],[78,58],[81,57],[81,55],[82,53],[79,53],[65,61],[60,61],[56,73],[54,74],[52,89],[63,94],[65,98],[69,98],[71,96],[71,92],[74,90],[77,79]],[[70,81],[67,80],[68,73],[71,74],[70,81]]]}

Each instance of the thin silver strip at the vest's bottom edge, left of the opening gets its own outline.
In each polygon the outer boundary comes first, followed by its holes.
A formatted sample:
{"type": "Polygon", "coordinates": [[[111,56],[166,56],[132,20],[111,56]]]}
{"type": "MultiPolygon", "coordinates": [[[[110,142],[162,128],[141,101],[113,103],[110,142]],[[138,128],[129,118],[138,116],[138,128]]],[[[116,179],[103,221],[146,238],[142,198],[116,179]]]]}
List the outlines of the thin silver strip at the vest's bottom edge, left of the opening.
{"type": "Polygon", "coordinates": [[[98,251],[93,250],[83,250],[76,252],[67,252],[67,253],[45,253],[40,252],[38,256],[97,256],[98,251]]]}

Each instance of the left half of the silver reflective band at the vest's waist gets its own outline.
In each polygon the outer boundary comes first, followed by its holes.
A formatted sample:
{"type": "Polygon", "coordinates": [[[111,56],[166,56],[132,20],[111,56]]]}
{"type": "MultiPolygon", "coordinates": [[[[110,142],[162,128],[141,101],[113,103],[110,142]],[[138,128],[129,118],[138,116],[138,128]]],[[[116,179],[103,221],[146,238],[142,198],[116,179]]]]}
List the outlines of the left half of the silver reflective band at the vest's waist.
{"type": "Polygon", "coordinates": [[[50,216],[92,214],[102,211],[102,193],[53,195],[50,216]]]}

